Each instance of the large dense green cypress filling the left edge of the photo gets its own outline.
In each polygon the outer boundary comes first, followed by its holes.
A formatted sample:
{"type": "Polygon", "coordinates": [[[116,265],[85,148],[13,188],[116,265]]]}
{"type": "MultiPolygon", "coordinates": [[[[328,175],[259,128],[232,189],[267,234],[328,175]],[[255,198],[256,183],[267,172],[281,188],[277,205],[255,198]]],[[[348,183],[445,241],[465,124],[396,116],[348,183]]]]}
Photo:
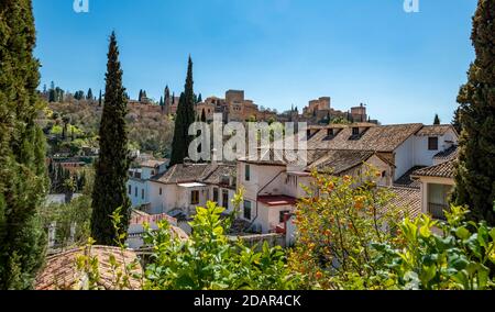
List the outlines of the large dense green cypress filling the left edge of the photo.
{"type": "Polygon", "coordinates": [[[38,208],[48,187],[31,0],[0,1],[0,289],[31,289],[46,249],[38,208]]]}

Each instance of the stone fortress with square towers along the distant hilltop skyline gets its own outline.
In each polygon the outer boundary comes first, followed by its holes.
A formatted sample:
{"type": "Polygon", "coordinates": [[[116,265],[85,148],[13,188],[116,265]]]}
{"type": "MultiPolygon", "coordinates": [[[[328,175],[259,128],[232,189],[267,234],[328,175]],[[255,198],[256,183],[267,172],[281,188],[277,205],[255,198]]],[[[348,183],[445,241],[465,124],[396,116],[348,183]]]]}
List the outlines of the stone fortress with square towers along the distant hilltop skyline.
{"type": "MultiPolygon", "coordinates": [[[[178,108],[179,97],[170,96],[168,87],[164,92],[164,105],[162,112],[167,115],[175,115],[178,108]]],[[[152,101],[144,98],[141,101],[130,101],[131,105],[148,105],[150,110],[157,110],[157,105],[152,105],[152,101]]],[[[228,90],[224,98],[209,97],[200,101],[195,107],[196,115],[204,114],[208,122],[213,120],[215,114],[221,114],[223,122],[245,122],[245,121],[278,121],[278,122],[307,122],[310,125],[329,124],[330,121],[339,119],[349,122],[370,122],[377,124],[378,121],[371,120],[366,113],[366,107],[360,104],[349,111],[343,112],[332,108],[330,97],[321,97],[309,101],[308,105],[300,112],[296,107],[278,113],[275,110],[260,108],[254,101],[245,98],[243,90],[228,90]]]]}

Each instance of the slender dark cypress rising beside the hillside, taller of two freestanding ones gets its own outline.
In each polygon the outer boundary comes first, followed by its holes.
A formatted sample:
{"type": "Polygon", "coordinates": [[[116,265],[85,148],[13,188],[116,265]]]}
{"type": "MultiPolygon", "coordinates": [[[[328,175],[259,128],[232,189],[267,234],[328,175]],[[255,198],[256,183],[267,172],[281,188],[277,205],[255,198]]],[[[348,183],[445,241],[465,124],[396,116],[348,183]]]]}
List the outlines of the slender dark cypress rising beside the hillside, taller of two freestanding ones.
{"type": "Polygon", "coordinates": [[[122,209],[122,229],[127,232],[131,203],[127,194],[128,171],[131,164],[125,115],[125,88],[116,34],[110,36],[103,114],[100,124],[100,154],[96,163],[92,192],[91,235],[97,244],[112,246],[116,232],[110,215],[122,209]]]}

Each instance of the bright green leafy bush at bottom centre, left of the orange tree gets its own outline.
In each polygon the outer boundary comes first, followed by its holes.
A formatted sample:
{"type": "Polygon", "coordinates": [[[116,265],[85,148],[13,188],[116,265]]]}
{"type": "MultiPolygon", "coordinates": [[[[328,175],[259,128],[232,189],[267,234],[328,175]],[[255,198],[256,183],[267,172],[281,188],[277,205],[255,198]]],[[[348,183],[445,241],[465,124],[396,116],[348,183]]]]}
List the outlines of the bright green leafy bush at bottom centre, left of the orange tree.
{"type": "Polygon", "coordinates": [[[286,266],[280,247],[256,248],[232,242],[226,235],[229,220],[224,209],[209,202],[198,208],[187,242],[170,235],[166,223],[150,231],[153,264],[145,270],[145,289],[151,290],[292,290],[297,278],[286,266]]]}

